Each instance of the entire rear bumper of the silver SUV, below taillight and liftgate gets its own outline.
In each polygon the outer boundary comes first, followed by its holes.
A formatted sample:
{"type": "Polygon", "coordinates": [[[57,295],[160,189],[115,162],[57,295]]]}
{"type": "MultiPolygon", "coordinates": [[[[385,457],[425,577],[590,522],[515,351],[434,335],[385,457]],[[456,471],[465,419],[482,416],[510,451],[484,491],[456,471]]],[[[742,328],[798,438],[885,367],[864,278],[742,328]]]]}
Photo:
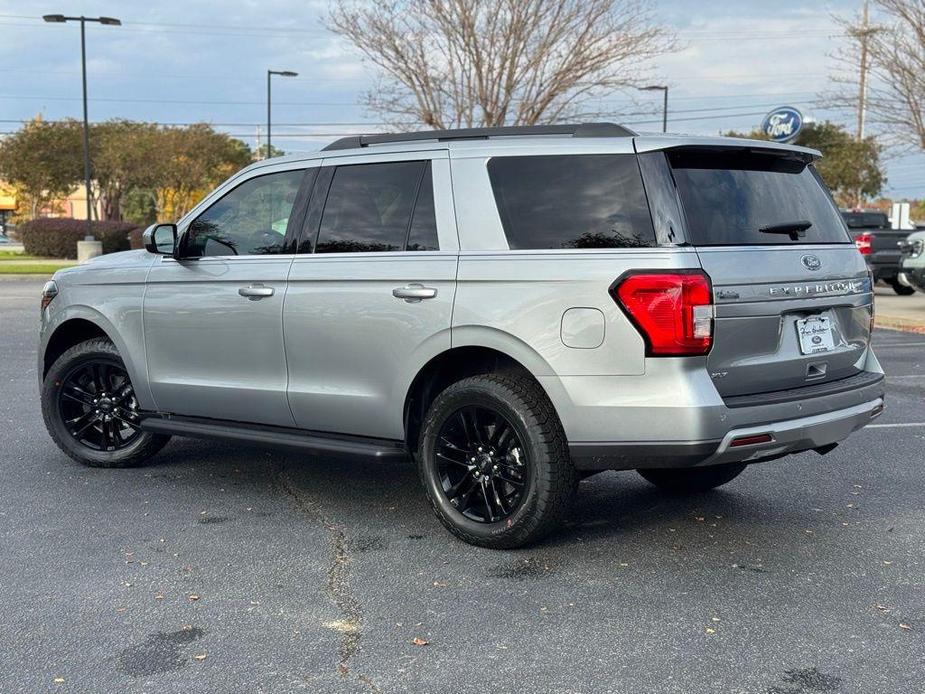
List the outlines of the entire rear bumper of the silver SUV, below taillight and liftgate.
{"type": "Polygon", "coordinates": [[[883,407],[883,369],[837,382],[723,399],[697,358],[650,359],[639,376],[539,377],[575,466],[626,470],[759,460],[837,443],[883,407]],[[733,439],[770,434],[756,446],[733,439]]]}

